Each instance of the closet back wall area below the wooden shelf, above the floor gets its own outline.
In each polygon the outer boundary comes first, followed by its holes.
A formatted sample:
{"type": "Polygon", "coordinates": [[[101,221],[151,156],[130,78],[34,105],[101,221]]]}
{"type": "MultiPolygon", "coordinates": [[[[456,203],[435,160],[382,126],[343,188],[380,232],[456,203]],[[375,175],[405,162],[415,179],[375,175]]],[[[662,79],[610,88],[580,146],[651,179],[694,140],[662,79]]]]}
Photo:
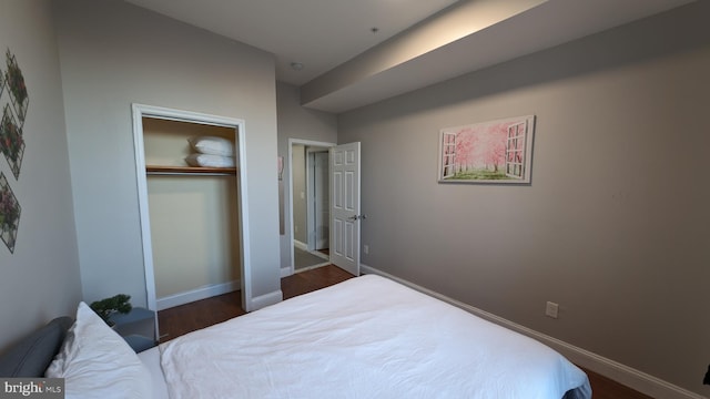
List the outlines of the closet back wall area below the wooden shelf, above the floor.
{"type": "Polygon", "coordinates": [[[159,309],[161,299],[240,289],[235,177],[152,176],[148,191],[159,309]]]}

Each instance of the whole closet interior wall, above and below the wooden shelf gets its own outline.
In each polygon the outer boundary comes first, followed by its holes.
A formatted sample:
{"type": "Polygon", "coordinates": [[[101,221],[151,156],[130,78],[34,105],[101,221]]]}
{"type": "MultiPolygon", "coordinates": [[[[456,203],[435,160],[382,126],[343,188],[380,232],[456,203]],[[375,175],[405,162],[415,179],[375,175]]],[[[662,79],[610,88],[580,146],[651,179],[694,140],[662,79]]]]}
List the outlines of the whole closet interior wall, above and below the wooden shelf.
{"type": "MultiPolygon", "coordinates": [[[[187,166],[187,139],[235,140],[234,129],[144,117],[145,165],[187,166]]],[[[239,160],[237,160],[239,164],[239,160]]],[[[234,174],[148,174],[158,309],[240,289],[237,184],[234,174]]]]}

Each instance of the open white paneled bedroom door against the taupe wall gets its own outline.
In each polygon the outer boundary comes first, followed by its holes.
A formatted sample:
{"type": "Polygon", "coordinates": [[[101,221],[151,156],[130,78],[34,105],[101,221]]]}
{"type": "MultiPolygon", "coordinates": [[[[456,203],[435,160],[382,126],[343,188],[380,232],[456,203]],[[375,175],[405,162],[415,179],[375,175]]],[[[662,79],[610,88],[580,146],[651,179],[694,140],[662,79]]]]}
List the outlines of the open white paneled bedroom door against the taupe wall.
{"type": "Polygon", "coordinates": [[[359,142],[331,147],[331,263],[359,276],[359,142]]]}

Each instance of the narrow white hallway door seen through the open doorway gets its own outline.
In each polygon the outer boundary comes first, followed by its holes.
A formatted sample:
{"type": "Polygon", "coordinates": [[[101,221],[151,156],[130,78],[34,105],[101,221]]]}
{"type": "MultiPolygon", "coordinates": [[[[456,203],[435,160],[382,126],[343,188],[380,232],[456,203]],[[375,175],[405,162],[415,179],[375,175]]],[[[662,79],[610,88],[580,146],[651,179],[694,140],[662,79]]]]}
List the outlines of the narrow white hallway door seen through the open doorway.
{"type": "Polygon", "coordinates": [[[328,153],[317,152],[314,156],[313,190],[315,212],[315,249],[327,249],[331,225],[331,206],[328,205],[328,153]]]}

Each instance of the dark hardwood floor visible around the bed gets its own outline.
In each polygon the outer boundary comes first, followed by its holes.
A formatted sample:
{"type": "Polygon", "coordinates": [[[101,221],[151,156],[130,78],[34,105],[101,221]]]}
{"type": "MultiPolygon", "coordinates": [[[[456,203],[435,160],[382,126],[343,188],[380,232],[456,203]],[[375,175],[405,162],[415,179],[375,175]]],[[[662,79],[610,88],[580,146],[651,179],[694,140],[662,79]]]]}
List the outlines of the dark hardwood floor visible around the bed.
{"type": "MultiPolygon", "coordinates": [[[[284,299],[311,293],[348,278],[353,275],[333,265],[297,273],[281,279],[284,299]]],[[[224,294],[158,313],[161,342],[244,315],[240,291],[224,294]]],[[[609,378],[585,369],[589,376],[595,399],[652,399],[609,378]]]]}

